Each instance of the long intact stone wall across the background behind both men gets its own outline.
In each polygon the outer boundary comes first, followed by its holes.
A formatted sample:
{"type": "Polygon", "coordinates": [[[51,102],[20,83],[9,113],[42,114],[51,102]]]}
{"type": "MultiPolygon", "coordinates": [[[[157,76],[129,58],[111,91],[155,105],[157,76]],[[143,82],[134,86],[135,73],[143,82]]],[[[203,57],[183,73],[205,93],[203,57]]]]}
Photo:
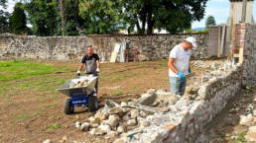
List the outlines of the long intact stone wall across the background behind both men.
{"type": "Polygon", "coordinates": [[[197,39],[192,57],[207,57],[207,34],[153,36],[0,36],[0,57],[30,57],[57,60],[80,60],[87,45],[93,45],[101,61],[109,61],[116,42],[139,51],[140,60],[167,59],[171,49],[187,36],[197,39]]]}

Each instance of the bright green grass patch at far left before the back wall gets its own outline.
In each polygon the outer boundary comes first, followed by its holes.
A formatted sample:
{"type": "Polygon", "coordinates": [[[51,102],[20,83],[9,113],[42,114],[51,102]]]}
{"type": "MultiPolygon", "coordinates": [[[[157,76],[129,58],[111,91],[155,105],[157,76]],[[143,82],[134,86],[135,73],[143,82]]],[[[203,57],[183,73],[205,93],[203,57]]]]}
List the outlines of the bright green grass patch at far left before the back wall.
{"type": "Polygon", "coordinates": [[[21,80],[68,70],[56,68],[46,63],[31,63],[26,60],[0,61],[0,81],[21,80]]]}

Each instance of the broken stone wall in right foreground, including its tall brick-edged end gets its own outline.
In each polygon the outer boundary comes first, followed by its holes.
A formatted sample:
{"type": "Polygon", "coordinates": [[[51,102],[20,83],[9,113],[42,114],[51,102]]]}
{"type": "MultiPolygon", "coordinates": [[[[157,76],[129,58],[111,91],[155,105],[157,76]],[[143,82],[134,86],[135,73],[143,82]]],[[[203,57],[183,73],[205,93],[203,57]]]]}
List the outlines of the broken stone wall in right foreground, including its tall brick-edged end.
{"type": "MultiPolygon", "coordinates": [[[[200,138],[203,126],[211,121],[232,97],[237,95],[242,86],[253,87],[256,83],[256,25],[236,25],[236,33],[239,34],[234,35],[236,44],[243,49],[242,64],[235,66],[231,62],[225,62],[217,71],[207,71],[204,75],[210,79],[202,85],[194,85],[192,89],[187,90],[184,97],[175,105],[170,106],[170,111],[155,113],[147,117],[151,125],[143,128],[143,133],[136,134],[131,139],[121,138],[117,141],[133,143],[209,142],[205,138],[200,138]]],[[[134,131],[136,130],[138,129],[134,131]]]]}

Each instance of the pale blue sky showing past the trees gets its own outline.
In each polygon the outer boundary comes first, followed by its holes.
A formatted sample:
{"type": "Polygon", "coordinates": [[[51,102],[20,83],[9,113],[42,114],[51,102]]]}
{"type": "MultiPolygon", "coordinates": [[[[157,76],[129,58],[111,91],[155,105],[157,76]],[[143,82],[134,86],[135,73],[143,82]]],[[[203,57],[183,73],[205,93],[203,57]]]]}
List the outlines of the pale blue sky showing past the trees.
{"type": "MultiPolygon", "coordinates": [[[[13,12],[13,7],[17,0],[8,0],[8,11],[13,12]]],[[[229,0],[208,0],[206,3],[205,15],[199,22],[192,23],[192,29],[194,28],[204,28],[205,20],[208,16],[213,16],[216,24],[226,24],[227,18],[229,16],[230,2],[229,0]]],[[[253,4],[253,17],[256,20],[256,0],[253,4]]]]}

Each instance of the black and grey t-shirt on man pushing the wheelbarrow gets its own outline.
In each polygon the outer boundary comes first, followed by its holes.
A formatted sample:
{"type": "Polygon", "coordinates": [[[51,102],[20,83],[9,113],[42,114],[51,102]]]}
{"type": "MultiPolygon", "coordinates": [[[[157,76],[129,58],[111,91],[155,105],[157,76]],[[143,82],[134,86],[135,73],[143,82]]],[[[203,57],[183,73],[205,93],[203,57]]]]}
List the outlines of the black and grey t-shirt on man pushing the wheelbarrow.
{"type": "Polygon", "coordinates": [[[85,73],[86,74],[95,74],[97,63],[96,61],[99,60],[99,57],[96,53],[93,53],[91,56],[85,54],[82,59],[81,63],[85,64],[85,73]]]}

